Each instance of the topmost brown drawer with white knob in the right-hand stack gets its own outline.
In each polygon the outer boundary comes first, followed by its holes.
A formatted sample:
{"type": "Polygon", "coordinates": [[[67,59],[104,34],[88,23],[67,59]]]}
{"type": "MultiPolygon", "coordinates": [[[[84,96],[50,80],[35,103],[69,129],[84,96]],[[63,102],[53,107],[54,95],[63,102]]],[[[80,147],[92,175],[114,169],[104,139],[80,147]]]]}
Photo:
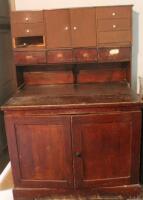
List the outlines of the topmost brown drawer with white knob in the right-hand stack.
{"type": "Polygon", "coordinates": [[[111,6],[96,8],[98,19],[131,18],[131,6],[111,6]]]}

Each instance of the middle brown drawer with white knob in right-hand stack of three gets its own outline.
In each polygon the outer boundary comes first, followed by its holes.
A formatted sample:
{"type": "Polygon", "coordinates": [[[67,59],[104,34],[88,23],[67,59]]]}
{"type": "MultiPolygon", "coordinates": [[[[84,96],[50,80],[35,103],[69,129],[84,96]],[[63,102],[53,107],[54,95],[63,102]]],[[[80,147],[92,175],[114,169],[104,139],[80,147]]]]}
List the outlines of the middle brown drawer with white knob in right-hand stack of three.
{"type": "Polygon", "coordinates": [[[117,30],[130,30],[130,19],[104,19],[97,21],[98,31],[117,31],[117,30]]]}

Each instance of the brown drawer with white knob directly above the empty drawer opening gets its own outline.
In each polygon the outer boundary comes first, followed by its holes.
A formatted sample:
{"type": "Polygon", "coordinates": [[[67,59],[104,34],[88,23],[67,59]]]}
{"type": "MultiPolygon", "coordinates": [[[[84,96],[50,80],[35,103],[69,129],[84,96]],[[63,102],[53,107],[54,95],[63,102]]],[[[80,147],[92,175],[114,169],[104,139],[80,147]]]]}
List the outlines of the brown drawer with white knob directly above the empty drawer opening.
{"type": "Polygon", "coordinates": [[[20,36],[42,36],[44,33],[44,24],[16,24],[12,26],[13,37],[20,36]]]}

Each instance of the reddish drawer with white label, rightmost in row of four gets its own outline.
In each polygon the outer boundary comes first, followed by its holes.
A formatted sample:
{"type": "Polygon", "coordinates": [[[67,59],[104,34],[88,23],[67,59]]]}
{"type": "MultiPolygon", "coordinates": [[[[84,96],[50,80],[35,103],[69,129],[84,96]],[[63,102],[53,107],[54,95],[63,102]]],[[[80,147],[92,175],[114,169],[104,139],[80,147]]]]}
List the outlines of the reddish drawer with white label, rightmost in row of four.
{"type": "Polygon", "coordinates": [[[131,59],[131,49],[124,48],[99,48],[98,61],[99,62],[119,62],[129,61],[131,59]]]}

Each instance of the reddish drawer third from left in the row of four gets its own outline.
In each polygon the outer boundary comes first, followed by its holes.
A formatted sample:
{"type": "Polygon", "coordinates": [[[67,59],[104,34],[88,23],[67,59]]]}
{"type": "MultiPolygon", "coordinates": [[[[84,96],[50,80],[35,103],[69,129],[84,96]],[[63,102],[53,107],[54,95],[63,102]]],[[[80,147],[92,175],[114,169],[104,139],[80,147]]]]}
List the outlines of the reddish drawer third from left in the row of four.
{"type": "Polygon", "coordinates": [[[74,58],[76,62],[97,61],[97,50],[96,49],[75,49],[74,58]]]}

